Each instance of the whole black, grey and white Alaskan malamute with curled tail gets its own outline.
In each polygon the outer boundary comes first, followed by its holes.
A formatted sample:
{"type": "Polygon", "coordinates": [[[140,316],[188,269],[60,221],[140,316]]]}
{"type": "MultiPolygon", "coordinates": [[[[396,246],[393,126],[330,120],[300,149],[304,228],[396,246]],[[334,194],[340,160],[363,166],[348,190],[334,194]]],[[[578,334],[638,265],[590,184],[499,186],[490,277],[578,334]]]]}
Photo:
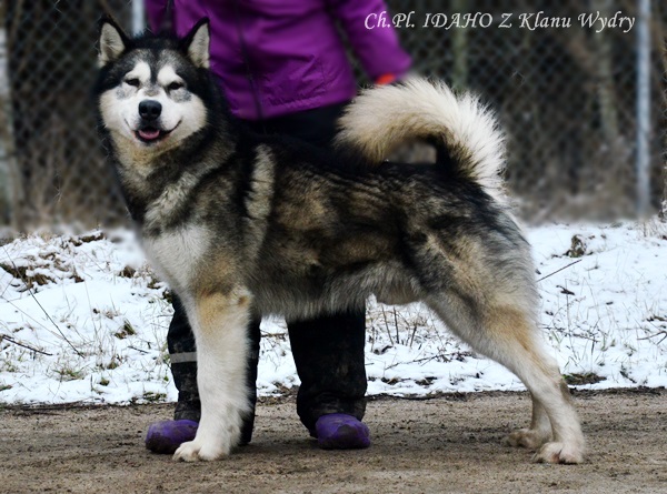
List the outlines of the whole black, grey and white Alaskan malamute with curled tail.
{"type": "Polygon", "coordinates": [[[412,79],[364,92],[340,122],[340,154],[250,134],[209,72],[209,27],[131,40],[101,22],[102,133],[149,259],[182,299],[197,339],[201,422],[175,458],[238,444],[248,322],[379,301],[424,301],[532,396],[509,443],[579,463],[584,437],[537,331],[530,249],[504,201],[502,137],[470,95],[412,79]],[[384,161],[435,145],[435,164],[384,161]]]}

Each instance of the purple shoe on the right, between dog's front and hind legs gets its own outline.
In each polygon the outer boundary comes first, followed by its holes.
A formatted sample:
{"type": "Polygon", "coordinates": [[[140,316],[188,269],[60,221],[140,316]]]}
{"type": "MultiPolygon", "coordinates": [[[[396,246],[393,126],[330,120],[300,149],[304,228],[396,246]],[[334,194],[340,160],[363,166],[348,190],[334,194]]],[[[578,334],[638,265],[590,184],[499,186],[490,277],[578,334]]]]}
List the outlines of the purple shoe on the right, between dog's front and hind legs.
{"type": "Polygon", "coordinates": [[[315,423],[315,430],[322,450],[359,450],[370,446],[368,426],[352,415],[322,415],[315,423]]]}

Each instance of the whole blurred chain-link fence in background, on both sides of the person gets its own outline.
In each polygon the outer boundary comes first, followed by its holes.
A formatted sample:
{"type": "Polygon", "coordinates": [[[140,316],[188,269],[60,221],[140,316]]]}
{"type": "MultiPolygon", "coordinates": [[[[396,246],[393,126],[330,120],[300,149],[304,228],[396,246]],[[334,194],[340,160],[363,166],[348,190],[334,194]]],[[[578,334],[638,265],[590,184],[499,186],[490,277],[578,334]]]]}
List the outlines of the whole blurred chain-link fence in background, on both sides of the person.
{"type": "MultiPolygon", "coordinates": [[[[525,216],[633,215],[641,199],[659,209],[667,139],[661,1],[388,4],[402,14],[395,20],[416,72],[470,89],[498,110],[508,134],[507,178],[525,216]],[[650,8],[646,22],[643,2],[650,8]],[[601,19],[611,23],[601,29],[601,19]]],[[[104,10],[130,30],[128,0],[0,4],[0,69],[7,68],[0,75],[0,222],[125,221],[89,94],[96,21],[104,10]]]]}

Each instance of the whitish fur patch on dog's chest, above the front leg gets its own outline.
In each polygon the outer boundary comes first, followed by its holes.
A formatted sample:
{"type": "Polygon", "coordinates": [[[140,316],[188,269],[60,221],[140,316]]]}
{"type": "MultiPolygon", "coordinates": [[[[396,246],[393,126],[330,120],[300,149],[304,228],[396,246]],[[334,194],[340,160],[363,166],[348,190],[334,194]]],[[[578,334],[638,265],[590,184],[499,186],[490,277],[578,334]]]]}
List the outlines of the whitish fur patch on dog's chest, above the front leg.
{"type": "Polygon", "coordinates": [[[145,236],[143,249],[158,274],[171,288],[187,289],[202,269],[210,245],[210,233],[196,225],[145,236]]]}

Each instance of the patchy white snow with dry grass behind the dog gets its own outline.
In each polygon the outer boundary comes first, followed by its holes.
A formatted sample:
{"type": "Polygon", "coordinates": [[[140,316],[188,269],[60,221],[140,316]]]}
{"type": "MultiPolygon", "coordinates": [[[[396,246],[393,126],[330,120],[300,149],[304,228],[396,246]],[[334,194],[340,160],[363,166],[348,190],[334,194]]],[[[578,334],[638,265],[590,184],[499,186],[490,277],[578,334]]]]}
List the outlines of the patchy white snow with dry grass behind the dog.
{"type": "MultiPolygon", "coordinates": [[[[570,384],[667,386],[667,226],[527,230],[540,330],[570,384]],[[560,271],[559,271],[560,270],[560,271]]],[[[132,234],[32,234],[0,246],[0,403],[175,401],[169,290],[132,234]]],[[[369,394],[522,390],[420,304],[369,303],[369,394]]],[[[285,325],[262,323],[258,389],[299,383],[285,325]]]]}

